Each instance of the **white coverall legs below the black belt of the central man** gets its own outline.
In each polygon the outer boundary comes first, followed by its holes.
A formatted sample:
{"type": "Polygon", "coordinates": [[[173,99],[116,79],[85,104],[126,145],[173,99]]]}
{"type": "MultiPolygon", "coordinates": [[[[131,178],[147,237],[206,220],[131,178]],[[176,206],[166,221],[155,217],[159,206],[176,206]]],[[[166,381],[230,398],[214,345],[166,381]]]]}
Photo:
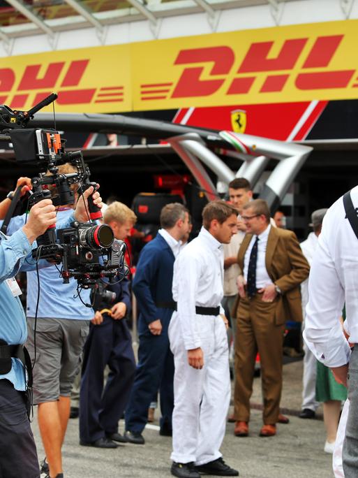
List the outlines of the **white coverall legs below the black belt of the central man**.
{"type": "Polygon", "coordinates": [[[196,315],[200,331],[204,367],[188,365],[188,352],[182,339],[181,324],[174,312],[168,330],[174,354],[174,412],[172,417],[172,461],[209,463],[222,455],[230,405],[228,337],[223,319],[196,315]]]}

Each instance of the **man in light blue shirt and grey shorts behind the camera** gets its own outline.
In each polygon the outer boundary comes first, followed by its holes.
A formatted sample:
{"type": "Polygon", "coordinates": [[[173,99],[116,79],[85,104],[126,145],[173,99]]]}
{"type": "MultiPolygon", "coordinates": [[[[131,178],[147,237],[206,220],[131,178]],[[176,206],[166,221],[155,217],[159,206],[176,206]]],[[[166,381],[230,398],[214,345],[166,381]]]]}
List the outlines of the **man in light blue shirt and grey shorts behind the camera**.
{"type": "MultiPolygon", "coordinates": [[[[63,165],[59,167],[59,172],[72,173],[75,168],[63,165]]],[[[84,191],[77,201],[75,212],[73,205],[57,208],[57,219],[64,222],[59,229],[69,227],[74,220],[88,221],[87,198],[93,191],[93,187],[84,191]]],[[[101,207],[98,192],[94,193],[93,198],[94,203],[101,207]]],[[[10,202],[7,199],[4,201],[10,202]]],[[[31,212],[32,210],[33,208],[31,212]]],[[[26,227],[25,221],[25,215],[13,218],[9,224],[9,234],[15,233],[22,226],[26,227]]],[[[77,282],[71,278],[70,284],[63,284],[56,266],[39,270],[38,277],[35,271],[27,274],[27,347],[31,360],[34,361],[36,357],[33,368],[33,403],[39,405],[38,425],[48,461],[44,461],[42,471],[49,473],[48,478],[62,478],[61,446],[70,411],[70,390],[93,314],[91,308],[85,307],[81,302],[82,299],[89,303],[89,291],[84,291],[81,298],[78,297],[77,282]],[[35,349],[36,309],[38,321],[35,349]]]]}

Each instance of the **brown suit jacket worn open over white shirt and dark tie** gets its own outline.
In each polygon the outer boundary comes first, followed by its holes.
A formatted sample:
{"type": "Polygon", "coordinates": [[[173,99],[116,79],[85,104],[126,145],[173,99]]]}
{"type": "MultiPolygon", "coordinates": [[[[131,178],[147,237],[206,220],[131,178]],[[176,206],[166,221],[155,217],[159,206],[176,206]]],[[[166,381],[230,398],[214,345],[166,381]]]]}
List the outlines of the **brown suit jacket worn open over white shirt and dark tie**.
{"type": "MultiPolygon", "coordinates": [[[[252,234],[246,234],[237,255],[240,269],[244,270],[244,257],[250,244],[252,234]]],[[[266,249],[266,269],[272,282],[282,291],[278,296],[276,307],[276,324],[285,324],[287,320],[302,321],[301,290],[299,284],[307,277],[310,270],[302,254],[296,235],[286,229],[271,227],[266,249]]],[[[240,297],[234,306],[237,316],[240,297]]]]}

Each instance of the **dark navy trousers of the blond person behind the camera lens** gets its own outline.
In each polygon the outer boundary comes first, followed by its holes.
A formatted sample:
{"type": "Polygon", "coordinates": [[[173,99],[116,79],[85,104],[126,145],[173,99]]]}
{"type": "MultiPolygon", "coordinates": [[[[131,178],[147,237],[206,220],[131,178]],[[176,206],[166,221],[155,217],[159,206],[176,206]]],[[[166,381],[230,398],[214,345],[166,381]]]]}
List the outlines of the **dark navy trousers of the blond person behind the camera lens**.
{"type": "Polygon", "coordinates": [[[80,392],[80,439],[95,442],[118,431],[135,375],[132,338],[125,319],[107,314],[91,324],[84,345],[80,392]],[[110,372],[103,390],[105,366],[110,372]]]}

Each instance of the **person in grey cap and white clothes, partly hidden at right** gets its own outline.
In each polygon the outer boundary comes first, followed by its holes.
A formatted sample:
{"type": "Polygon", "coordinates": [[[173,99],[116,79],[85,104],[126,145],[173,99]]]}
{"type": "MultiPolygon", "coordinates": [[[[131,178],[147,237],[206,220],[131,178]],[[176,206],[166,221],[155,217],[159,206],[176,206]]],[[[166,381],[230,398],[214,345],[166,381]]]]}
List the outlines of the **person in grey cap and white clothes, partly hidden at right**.
{"type": "MultiPolygon", "coordinates": [[[[308,238],[301,242],[301,249],[306,257],[309,265],[313,261],[313,254],[318,246],[318,236],[322,231],[322,222],[327,208],[318,209],[312,212],[311,224],[313,232],[308,234],[308,238]]],[[[304,316],[304,323],[302,330],[304,331],[306,318],[306,305],[308,304],[308,279],[301,283],[302,296],[302,313],[304,316]]],[[[304,372],[303,372],[303,389],[302,389],[302,405],[299,418],[313,419],[315,418],[315,410],[318,407],[318,402],[315,400],[315,379],[317,375],[317,361],[311,350],[304,342],[304,372]]]]}

